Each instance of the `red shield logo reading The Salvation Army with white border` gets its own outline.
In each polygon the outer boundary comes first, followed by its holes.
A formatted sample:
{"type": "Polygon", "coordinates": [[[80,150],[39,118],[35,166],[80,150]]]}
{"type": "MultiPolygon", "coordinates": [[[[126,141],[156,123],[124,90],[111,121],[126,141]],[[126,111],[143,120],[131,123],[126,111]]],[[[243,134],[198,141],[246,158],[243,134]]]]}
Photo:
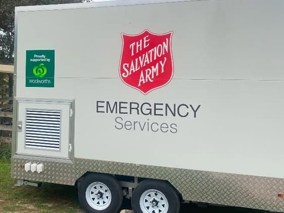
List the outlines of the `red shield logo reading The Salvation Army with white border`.
{"type": "Polygon", "coordinates": [[[121,33],[121,80],[144,95],[168,84],[174,74],[172,35],[172,31],[154,34],[147,29],[137,35],[121,33]]]}

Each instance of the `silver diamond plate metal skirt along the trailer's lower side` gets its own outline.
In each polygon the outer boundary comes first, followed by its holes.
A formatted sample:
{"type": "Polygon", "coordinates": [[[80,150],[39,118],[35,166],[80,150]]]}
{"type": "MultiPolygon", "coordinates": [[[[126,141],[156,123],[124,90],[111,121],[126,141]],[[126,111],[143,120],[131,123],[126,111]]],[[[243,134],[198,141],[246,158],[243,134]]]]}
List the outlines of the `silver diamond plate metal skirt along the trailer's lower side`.
{"type": "Polygon", "coordinates": [[[88,159],[57,162],[44,158],[13,157],[12,177],[74,185],[87,171],[168,180],[183,199],[284,212],[284,179],[194,171],[88,159]],[[44,172],[25,172],[20,164],[43,163],[44,172]]]}

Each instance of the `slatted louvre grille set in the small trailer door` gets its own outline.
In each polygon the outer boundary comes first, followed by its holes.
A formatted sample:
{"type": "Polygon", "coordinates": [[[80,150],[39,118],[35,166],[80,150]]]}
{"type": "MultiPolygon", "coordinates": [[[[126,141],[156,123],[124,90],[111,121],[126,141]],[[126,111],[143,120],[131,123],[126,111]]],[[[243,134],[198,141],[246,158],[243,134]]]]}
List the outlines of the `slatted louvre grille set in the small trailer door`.
{"type": "Polygon", "coordinates": [[[37,149],[60,149],[61,111],[26,109],[25,146],[37,149]]]}

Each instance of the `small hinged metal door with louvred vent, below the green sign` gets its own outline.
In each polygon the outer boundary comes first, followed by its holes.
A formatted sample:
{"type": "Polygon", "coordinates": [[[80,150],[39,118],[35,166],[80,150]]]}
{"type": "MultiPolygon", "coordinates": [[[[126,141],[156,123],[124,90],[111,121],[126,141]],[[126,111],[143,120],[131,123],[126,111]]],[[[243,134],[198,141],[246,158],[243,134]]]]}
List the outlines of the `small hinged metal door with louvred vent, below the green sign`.
{"type": "Polygon", "coordinates": [[[17,101],[16,154],[69,159],[71,102],[17,101]]]}

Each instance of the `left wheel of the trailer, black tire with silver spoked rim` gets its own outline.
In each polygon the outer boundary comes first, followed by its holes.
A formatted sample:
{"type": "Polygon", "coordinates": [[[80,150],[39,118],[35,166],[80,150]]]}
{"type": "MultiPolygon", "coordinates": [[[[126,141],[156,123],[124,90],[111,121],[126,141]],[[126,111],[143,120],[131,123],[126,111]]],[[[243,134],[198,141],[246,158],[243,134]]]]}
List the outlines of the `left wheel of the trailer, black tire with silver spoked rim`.
{"type": "Polygon", "coordinates": [[[123,192],[113,176],[89,174],[80,180],[78,199],[87,213],[116,213],[123,202],[123,192]]]}

